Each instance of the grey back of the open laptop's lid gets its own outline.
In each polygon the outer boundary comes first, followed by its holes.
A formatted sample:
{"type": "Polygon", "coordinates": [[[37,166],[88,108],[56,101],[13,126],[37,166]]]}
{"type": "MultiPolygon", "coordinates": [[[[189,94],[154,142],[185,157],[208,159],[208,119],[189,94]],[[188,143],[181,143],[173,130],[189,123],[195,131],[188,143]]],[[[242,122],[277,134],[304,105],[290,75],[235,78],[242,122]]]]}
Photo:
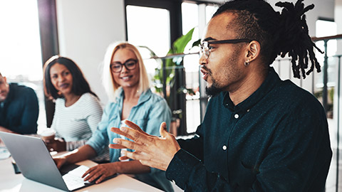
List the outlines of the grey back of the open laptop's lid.
{"type": "Polygon", "coordinates": [[[69,191],[43,140],[6,132],[0,138],[26,178],[69,191]]]}

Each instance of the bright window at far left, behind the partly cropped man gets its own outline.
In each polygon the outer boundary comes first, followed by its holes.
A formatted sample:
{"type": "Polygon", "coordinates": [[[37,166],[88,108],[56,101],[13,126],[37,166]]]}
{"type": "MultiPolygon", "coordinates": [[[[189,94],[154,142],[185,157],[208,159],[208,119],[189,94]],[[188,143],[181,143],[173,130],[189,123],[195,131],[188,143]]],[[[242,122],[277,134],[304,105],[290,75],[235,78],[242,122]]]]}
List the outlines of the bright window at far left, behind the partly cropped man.
{"type": "Polygon", "coordinates": [[[36,91],[38,129],[46,127],[37,1],[0,1],[0,25],[1,74],[36,91]]]}

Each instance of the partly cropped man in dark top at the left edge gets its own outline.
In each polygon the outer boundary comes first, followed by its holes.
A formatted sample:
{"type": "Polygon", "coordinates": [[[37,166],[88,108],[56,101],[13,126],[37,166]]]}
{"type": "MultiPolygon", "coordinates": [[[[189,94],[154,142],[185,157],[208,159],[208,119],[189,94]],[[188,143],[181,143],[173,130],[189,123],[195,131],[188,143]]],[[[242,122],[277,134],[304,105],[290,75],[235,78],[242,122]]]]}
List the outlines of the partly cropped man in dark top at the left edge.
{"type": "Polygon", "coordinates": [[[0,131],[36,134],[38,98],[30,87],[7,83],[0,73],[0,131]]]}

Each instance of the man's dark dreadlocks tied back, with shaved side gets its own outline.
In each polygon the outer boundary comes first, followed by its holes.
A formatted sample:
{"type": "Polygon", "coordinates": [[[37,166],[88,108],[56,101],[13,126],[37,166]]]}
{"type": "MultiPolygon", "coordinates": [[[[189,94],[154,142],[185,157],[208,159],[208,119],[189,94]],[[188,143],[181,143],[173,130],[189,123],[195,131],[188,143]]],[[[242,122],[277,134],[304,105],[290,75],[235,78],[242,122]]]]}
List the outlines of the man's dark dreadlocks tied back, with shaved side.
{"type": "Polygon", "coordinates": [[[304,7],[303,1],[298,0],[296,4],[276,3],[276,6],[283,8],[281,13],[274,11],[264,0],[227,1],[212,17],[222,13],[234,14],[234,23],[227,27],[237,32],[237,38],[258,41],[261,45],[261,59],[266,65],[271,65],[278,55],[284,58],[288,54],[294,78],[306,78],[314,68],[321,72],[314,48],[323,52],[311,41],[304,15],[306,11],[314,9],[314,4],[304,7]],[[309,59],[311,67],[307,70],[309,59]]]}

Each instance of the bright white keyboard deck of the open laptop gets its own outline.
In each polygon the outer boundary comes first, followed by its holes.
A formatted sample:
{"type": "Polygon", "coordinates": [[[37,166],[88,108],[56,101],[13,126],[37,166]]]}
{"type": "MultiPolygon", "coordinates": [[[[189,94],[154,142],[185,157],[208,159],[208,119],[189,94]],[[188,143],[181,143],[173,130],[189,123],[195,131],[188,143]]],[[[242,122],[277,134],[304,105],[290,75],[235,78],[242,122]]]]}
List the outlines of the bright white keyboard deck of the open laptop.
{"type": "Polygon", "coordinates": [[[69,190],[80,188],[89,184],[89,181],[83,181],[81,176],[88,170],[88,166],[78,166],[76,169],[69,171],[68,174],[63,175],[63,180],[69,190]]]}

